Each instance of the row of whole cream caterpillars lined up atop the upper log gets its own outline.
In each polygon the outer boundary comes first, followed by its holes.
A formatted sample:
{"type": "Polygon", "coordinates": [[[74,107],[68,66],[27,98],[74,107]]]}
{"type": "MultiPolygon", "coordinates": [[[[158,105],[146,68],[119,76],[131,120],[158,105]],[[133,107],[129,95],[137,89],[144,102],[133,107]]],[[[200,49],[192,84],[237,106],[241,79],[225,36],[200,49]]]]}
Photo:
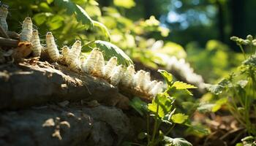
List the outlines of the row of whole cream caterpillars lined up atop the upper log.
{"type": "MultiPolygon", "coordinates": [[[[33,55],[39,57],[44,47],[40,44],[39,34],[37,30],[32,30],[33,24],[31,18],[26,18],[23,21],[20,40],[31,42],[33,55]]],[[[53,34],[46,34],[46,52],[50,59],[54,62],[65,64],[74,72],[82,74],[91,74],[94,77],[101,77],[111,85],[129,88],[131,90],[145,93],[151,98],[162,92],[165,88],[163,82],[151,80],[149,72],[140,70],[135,72],[135,66],[129,65],[125,68],[123,65],[118,65],[117,58],[113,56],[109,61],[104,60],[103,53],[94,48],[87,58],[80,58],[81,42],[77,40],[71,48],[64,46],[61,48],[61,54],[54,40],[53,34]]]]}

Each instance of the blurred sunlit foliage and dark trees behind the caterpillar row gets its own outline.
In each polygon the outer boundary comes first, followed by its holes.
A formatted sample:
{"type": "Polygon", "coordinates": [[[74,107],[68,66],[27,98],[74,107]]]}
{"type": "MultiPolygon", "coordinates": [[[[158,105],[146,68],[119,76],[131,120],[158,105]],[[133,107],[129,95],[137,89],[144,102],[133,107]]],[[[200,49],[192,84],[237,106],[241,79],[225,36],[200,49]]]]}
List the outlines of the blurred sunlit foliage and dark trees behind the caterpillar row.
{"type": "MultiPolygon", "coordinates": [[[[202,75],[205,82],[217,82],[241,63],[243,57],[236,43],[230,41],[231,36],[244,38],[256,33],[255,0],[72,1],[104,24],[111,42],[132,60],[152,69],[170,69],[167,58],[183,58],[191,72],[202,75]]],[[[10,6],[7,22],[12,31],[19,32],[23,19],[29,16],[42,41],[46,31],[53,31],[60,47],[72,45],[75,39],[84,43],[108,40],[104,31],[86,30],[75,17],[67,15],[58,0],[2,2],[10,6]]]]}

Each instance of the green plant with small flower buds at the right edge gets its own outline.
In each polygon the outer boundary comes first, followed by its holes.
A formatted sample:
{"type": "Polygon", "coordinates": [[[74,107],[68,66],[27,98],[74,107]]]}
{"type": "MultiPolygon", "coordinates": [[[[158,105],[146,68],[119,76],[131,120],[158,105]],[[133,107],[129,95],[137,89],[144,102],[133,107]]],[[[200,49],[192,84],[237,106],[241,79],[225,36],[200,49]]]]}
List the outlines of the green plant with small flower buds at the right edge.
{"type": "Polygon", "coordinates": [[[237,72],[222,79],[217,85],[208,85],[208,91],[221,99],[227,99],[225,104],[231,114],[246,128],[249,135],[256,136],[256,124],[252,116],[256,112],[256,39],[248,35],[246,39],[231,37],[231,40],[241,48],[244,61],[238,66],[237,72]],[[244,50],[243,45],[249,45],[249,50],[244,50]]]}

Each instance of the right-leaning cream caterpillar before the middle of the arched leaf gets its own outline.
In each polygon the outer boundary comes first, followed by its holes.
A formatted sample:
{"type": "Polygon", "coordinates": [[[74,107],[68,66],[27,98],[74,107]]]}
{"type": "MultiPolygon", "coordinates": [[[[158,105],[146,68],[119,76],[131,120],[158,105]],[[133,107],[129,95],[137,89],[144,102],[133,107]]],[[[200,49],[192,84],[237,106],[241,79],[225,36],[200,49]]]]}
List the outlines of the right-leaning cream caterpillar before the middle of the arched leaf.
{"type": "Polygon", "coordinates": [[[110,58],[110,60],[107,62],[107,64],[104,66],[104,69],[103,69],[103,75],[105,79],[107,80],[110,79],[111,73],[116,68],[116,65],[117,65],[117,58],[116,57],[110,58]]]}

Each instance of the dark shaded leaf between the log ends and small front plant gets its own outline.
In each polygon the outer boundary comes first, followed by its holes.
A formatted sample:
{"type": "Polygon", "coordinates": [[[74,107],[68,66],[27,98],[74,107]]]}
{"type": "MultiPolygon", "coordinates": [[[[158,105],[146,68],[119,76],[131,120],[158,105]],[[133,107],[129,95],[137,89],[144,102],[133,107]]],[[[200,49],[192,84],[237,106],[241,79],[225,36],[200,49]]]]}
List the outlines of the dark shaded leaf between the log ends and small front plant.
{"type": "Polygon", "coordinates": [[[146,102],[141,101],[138,97],[135,97],[132,99],[132,101],[129,101],[129,105],[139,112],[140,115],[143,115],[143,113],[147,110],[146,102]]]}

